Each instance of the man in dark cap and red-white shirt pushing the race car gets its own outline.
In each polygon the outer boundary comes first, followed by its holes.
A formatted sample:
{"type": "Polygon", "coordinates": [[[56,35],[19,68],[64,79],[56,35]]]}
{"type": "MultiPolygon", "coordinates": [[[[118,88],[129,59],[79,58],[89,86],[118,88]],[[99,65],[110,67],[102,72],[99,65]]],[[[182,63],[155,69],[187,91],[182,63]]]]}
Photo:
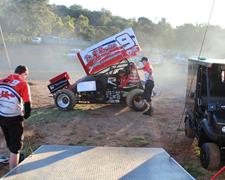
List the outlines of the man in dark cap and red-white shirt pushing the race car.
{"type": "Polygon", "coordinates": [[[153,68],[152,68],[152,65],[148,62],[147,57],[142,57],[141,62],[143,63],[143,67],[138,69],[144,71],[145,90],[143,93],[143,97],[144,97],[145,103],[147,104],[147,110],[143,114],[151,116],[153,113],[153,108],[151,103],[152,90],[154,88],[153,68]]]}

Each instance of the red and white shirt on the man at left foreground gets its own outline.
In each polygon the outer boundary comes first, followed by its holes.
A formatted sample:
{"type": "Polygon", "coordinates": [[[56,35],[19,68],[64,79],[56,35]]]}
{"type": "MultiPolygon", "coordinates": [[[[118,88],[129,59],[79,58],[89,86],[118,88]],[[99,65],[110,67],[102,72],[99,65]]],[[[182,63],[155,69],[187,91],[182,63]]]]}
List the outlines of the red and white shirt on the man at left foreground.
{"type": "Polygon", "coordinates": [[[31,102],[30,87],[18,74],[0,80],[0,115],[23,115],[23,104],[31,102]]]}

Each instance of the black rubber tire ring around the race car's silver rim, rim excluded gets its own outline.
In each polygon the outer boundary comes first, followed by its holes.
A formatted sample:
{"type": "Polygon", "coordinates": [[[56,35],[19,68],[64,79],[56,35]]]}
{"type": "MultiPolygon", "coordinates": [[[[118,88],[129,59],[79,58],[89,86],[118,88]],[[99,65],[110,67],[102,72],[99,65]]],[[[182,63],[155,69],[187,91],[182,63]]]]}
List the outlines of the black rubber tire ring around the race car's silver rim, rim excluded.
{"type": "Polygon", "coordinates": [[[58,107],[59,110],[63,110],[63,111],[69,111],[69,110],[72,110],[72,109],[74,108],[74,106],[75,106],[76,103],[77,103],[77,101],[76,101],[75,95],[74,95],[74,93],[73,93],[71,90],[69,90],[69,89],[62,89],[62,90],[58,91],[58,92],[56,93],[56,95],[55,95],[55,105],[58,107]],[[66,94],[66,95],[69,97],[69,99],[70,99],[70,103],[69,103],[69,105],[68,105],[66,108],[60,107],[60,106],[58,105],[58,103],[57,103],[57,98],[58,98],[59,95],[61,95],[61,94],[66,94]]]}

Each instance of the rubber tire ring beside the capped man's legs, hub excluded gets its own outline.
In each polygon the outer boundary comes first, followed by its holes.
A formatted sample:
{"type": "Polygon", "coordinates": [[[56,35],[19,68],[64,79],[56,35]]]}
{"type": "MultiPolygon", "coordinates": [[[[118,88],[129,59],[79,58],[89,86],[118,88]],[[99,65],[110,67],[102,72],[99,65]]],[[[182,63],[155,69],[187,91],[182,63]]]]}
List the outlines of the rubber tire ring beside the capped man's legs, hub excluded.
{"type": "Polygon", "coordinates": [[[132,91],[130,91],[126,97],[126,104],[128,107],[134,109],[135,111],[144,111],[146,109],[146,105],[144,105],[143,107],[139,108],[136,107],[134,104],[134,98],[136,96],[141,96],[143,94],[143,90],[142,89],[133,89],[132,91]]]}

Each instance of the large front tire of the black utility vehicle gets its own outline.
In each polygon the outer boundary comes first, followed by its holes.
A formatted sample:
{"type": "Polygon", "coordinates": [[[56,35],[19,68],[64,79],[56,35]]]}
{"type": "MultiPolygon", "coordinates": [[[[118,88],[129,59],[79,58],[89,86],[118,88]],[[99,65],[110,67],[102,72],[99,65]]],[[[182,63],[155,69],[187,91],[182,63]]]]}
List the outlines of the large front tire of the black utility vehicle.
{"type": "Polygon", "coordinates": [[[215,143],[204,143],[201,146],[200,161],[207,170],[217,170],[220,167],[220,150],[215,143]]]}

